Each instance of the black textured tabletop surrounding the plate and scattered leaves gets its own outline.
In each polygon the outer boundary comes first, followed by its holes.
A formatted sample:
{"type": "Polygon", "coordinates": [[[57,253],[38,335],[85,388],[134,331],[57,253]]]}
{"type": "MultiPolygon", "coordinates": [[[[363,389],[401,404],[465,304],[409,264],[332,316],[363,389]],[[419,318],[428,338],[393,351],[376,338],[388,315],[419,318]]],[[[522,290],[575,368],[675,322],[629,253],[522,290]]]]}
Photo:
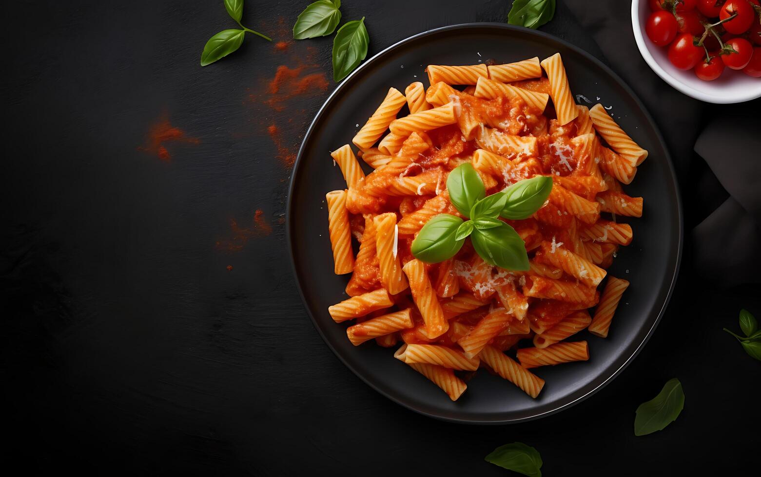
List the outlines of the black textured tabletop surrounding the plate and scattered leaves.
{"type": "MultiPolygon", "coordinates": [[[[288,40],[307,3],[249,0],[244,24],[288,40]]],[[[369,55],[433,27],[504,21],[510,5],[343,3],[344,21],[367,17],[369,55]]],[[[542,30],[606,61],[558,3],[542,30]]],[[[282,220],[290,170],[277,156],[298,148],[328,91],[282,112],[259,95],[278,65],[315,64],[310,71],[330,80],[330,37],[280,52],[249,35],[238,52],[201,68],[206,39],[234,27],[221,1],[6,9],[6,461],[86,474],[504,475],[483,456],[522,441],[540,450],[546,475],[747,469],[758,450],[743,436],[758,409],[759,362],[721,327],[737,330],[742,307],[761,317],[761,293],[697,278],[689,233],[664,320],[590,400],[521,425],[428,419],[336,359],[291,276],[282,220]],[[199,143],[167,142],[169,161],[144,150],[162,117],[199,143]],[[272,124],[285,131],[280,150],[267,134],[272,124]],[[636,407],[670,377],[686,393],[680,418],[635,438],[636,407]]],[[[667,135],[683,133],[659,122],[667,135]]],[[[680,160],[689,231],[724,193],[698,157],[680,160]]]]}

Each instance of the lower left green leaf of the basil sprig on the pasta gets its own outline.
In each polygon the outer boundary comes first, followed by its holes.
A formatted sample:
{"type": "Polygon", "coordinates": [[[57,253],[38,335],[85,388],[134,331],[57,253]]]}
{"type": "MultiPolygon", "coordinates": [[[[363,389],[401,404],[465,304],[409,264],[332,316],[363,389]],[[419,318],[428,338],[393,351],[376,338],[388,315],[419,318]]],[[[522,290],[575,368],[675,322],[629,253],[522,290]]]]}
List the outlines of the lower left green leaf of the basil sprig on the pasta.
{"type": "Polygon", "coordinates": [[[448,213],[440,213],[428,220],[412,241],[412,255],[429,264],[454,257],[465,242],[464,239],[455,238],[457,228],[462,223],[460,217],[448,213]]]}

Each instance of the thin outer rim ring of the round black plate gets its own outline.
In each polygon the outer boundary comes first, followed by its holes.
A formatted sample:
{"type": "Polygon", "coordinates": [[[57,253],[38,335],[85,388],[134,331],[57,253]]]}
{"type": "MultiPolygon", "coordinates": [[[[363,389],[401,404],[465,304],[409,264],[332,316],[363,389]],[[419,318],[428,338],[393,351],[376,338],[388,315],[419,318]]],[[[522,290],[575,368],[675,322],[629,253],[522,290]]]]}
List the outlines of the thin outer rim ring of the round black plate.
{"type": "MultiPolygon", "coordinates": [[[[377,393],[380,393],[382,396],[385,396],[387,399],[393,401],[394,403],[397,403],[400,406],[405,407],[406,409],[428,416],[433,419],[438,419],[445,422],[454,422],[457,424],[505,425],[505,424],[515,424],[518,422],[533,421],[534,419],[540,419],[549,415],[556,414],[557,412],[561,412],[562,410],[569,409],[572,406],[575,406],[576,404],[581,403],[584,400],[587,400],[589,397],[593,396],[603,387],[607,386],[607,384],[609,384],[610,381],[613,381],[613,379],[617,377],[619,374],[621,374],[621,372],[627,366],[629,366],[629,364],[636,358],[639,352],[642,351],[642,348],[645,347],[645,344],[648,343],[648,340],[650,340],[651,336],[654,333],[655,328],[658,327],[658,324],[660,324],[661,319],[663,318],[666,308],[670,302],[671,296],[673,295],[673,290],[677,284],[677,278],[679,276],[679,270],[680,270],[680,265],[682,262],[682,252],[683,252],[683,238],[684,238],[684,220],[683,219],[684,217],[683,217],[682,200],[681,200],[679,182],[677,182],[676,170],[673,167],[671,154],[668,150],[668,147],[666,146],[663,134],[661,134],[660,128],[658,128],[657,123],[654,122],[653,117],[650,115],[650,112],[648,112],[648,109],[645,108],[645,105],[642,103],[642,100],[640,100],[639,97],[636,95],[636,93],[632,90],[632,88],[629,87],[629,84],[626,84],[626,82],[623,81],[622,78],[619,77],[619,75],[616,74],[615,71],[610,69],[607,65],[601,62],[597,57],[595,57],[589,52],[586,52],[584,49],[581,49],[578,46],[573,45],[572,43],[568,43],[567,41],[565,41],[565,39],[562,39],[559,36],[550,35],[549,33],[544,33],[538,30],[530,30],[525,27],[517,27],[510,24],[503,24],[503,23],[497,23],[497,22],[473,22],[473,23],[466,23],[466,24],[447,25],[446,27],[438,27],[431,30],[425,30],[421,33],[416,33],[415,35],[408,36],[405,39],[402,39],[396,43],[393,43],[391,46],[388,46],[387,48],[380,50],[380,52],[377,52],[367,61],[362,63],[358,68],[352,71],[352,73],[349,74],[349,76],[345,77],[345,79],[336,87],[336,89],[333,90],[332,93],[330,93],[330,95],[324,101],[323,105],[320,106],[320,109],[314,115],[314,119],[312,120],[309,127],[307,128],[307,131],[304,133],[304,139],[301,141],[301,146],[299,147],[298,155],[296,156],[293,169],[291,169],[291,180],[288,182],[288,197],[286,200],[286,207],[285,207],[285,242],[286,242],[286,247],[288,248],[288,257],[290,258],[290,262],[291,262],[291,272],[293,273],[295,277],[296,288],[298,289],[298,293],[301,297],[301,303],[304,305],[304,308],[306,308],[307,315],[310,317],[310,321],[312,321],[312,326],[314,326],[314,328],[317,330],[317,333],[320,334],[320,337],[326,343],[328,348],[330,348],[333,354],[336,355],[339,361],[342,362],[343,365],[345,365],[347,368],[349,368],[349,370],[352,371],[352,373],[354,373],[355,376],[359,377],[361,381],[363,381],[365,384],[367,384],[372,389],[377,391],[377,393]],[[610,74],[610,76],[613,77],[613,79],[617,81],[623,87],[626,93],[628,93],[629,96],[632,97],[632,99],[635,101],[635,104],[644,113],[645,118],[648,120],[648,122],[650,122],[651,125],[654,126],[656,137],[665,152],[666,166],[667,166],[668,172],[670,172],[670,182],[672,183],[674,191],[676,192],[676,199],[677,199],[677,204],[676,204],[677,205],[677,220],[679,222],[679,227],[677,229],[677,232],[678,232],[677,260],[676,260],[676,264],[673,267],[673,273],[671,275],[671,280],[668,286],[666,299],[661,305],[661,308],[658,310],[658,316],[655,317],[653,324],[651,325],[648,332],[645,334],[645,338],[642,340],[641,343],[638,344],[634,352],[632,352],[632,355],[630,355],[628,358],[626,358],[624,362],[622,362],[619,368],[613,371],[613,373],[611,373],[610,376],[605,378],[602,382],[594,386],[594,388],[587,391],[587,393],[584,393],[581,396],[578,396],[575,400],[572,400],[568,403],[563,403],[559,406],[556,406],[554,409],[550,409],[545,412],[535,413],[532,415],[518,417],[514,419],[489,419],[489,420],[459,419],[456,417],[449,417],[444,415],[438,415],[431,412],[425,412],[424,410],[417,409],[416,406],[412,406],[409,403],[404,402],[403,400],[398,400],[395,397],[390,396],[389,393],[380,389],[371,381],[369,381],[361,372],[355,369],[354,366],[352,366],[349,362],[343,359],[342,355],[336,350],[336,348],[333,347],[333,344],[330,343],[330,340],[326,338],[325,334],[320,329],[320,326],[317,324],[317,319],[314,317],[314,314],[310,310],[310,306],[308,305],[307,299],[304,296],[304,289],[301,286],[301,279],[298,276],[298,270],[296,267],[296,258],[294,253],[294,240],[292,238],[292,227],[293,227],[292,226],[292,219],[293,219],[292,207],[293,207],[293,197],[294,197],[294,191],[295,191],[296,175],[297,175],[298,167],[300,166],[301,161],[304,159],[304,150],[306,149],[307,141],[310,139],[310,136],[312,132],[314,131],[314,128],[317,125],[317,123],[320,122],[320,119],[322,118],[323,113],[326,111],[328,106],[330,106],[330,104],[333,103],[333,100],[335,100],[336,96],[338,96],[339,93],[341,93],[342,90],[346,87],[346,85],[349,84],[350,80],[352,80],[352,77],[355,77],[355,75],[358,74],[360,71],[362,71],[364,68],[368,68],[369,65],[372,65],[379,58],[382,58],[385,55],[387,55],[389,52],[404,46],[406,43],[411,43],[412,41],[416,39],[420,39],[425,36],[431,36],[431,35],[441,33],[444,31],[471,30],[471,29],[486,29],[486,30],[494,29],[494,30],[513,31],[513,32],[518,32],[522,34],[527,34],[529,36],[532,36],[532,35],[538,36],[540,37],[540,39],[545,39],[545,40],[549,39],[549,40],[552,40],[553,42],[559,42],[559,43],[562,43],[563,46],[565,46],[566,48],[572,49],[577,54],[587,58],[587,60],[594,62],[595,65],[597,65],[599,68],[602,68],[603,71],[607,72],[607,74],[610,74]]],[[[667,273],[669,272],[667,271],[667,273]]],[[[531,412],[531,411],[528,411],[528,412],[531,412]]]]}

